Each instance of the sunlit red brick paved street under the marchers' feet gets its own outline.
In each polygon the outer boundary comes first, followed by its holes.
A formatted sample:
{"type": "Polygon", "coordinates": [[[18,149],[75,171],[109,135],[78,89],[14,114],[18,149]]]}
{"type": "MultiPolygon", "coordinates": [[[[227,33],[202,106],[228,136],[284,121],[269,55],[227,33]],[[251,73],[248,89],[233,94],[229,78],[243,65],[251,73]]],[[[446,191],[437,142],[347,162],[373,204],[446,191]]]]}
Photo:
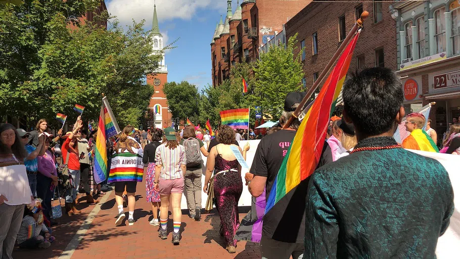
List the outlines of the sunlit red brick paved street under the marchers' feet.
{"type": "MultiPolygon", "coordinates": [[[[229,254],[225,250],[223,237],[219,236],[219,216],[216,211],[202,214],[202,220],[195,222],[183,211],[179,246],[171,243],[171,234],[167,240],[158,237],[158,227],[149,225],[152,219],[150,204],[145,199],[145,184],[137,185],[134,226],[122,224],[115,227],[115,193],[108,193],[107,201],[100,205],[87,205],[85,201],[78,204],[82,213],[71,218],[63,215],[60,223],[54,227],[56,242],[49,249],[22,250],[15,249],[14,258],[69,258],[66,250],[75,233],[96,206],[101,210],[94,218],[87,232],[82,236],[71,258],[260,258],[258,245],[251,242],[238,242],[237,252],[229,254]]],[[[203,197],[206,198],[206,197],[203,197]]],[[[100,197],[99,200],[104,199],[100,197]]],[[[127,214],[127,208],[125,208],[127,214]]],[[[240,219],[247,209],[240,211],[240,219]]],[[[127,219],[127,217],[126,217],[127,219]]],[[[172,232],[172,216],[168,222],[168,232],[172,232]]]]}

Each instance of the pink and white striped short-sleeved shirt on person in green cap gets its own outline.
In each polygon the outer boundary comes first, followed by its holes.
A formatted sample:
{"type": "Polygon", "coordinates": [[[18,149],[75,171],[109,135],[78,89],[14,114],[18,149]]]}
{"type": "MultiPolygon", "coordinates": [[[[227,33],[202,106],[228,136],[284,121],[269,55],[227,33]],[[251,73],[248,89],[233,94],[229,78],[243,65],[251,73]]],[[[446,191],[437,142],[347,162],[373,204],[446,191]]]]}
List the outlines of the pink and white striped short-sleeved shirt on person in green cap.
{"type": "Polygon", "coordinates": [[[186,150],[182,145],[175,149],[169,149],[166,144],[161,144],[155,152],[156,164],[161,164],[160,178],[164,180],[174,180],[182,178],[180,166],[187,164],[186,150]]]}

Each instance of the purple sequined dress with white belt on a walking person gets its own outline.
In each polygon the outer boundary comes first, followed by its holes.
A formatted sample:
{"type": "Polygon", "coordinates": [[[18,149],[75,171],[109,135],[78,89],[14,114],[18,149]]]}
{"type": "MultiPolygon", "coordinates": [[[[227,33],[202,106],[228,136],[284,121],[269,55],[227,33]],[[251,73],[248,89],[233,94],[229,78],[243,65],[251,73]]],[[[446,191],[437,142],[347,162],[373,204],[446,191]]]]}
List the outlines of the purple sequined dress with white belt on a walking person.
{"type": "Polygon", "coordinates": [[[229,246],[236,246],[235,233],[240,226],[238,201],[243,192],[243,180],[238,170],[238,160],[228,161],[216,156],[214,172],[228,170],[214,177],[214,197],[219,211],[221,234],[229,246]],[[230,169],[237,169],[233,171],[230,169]]]}

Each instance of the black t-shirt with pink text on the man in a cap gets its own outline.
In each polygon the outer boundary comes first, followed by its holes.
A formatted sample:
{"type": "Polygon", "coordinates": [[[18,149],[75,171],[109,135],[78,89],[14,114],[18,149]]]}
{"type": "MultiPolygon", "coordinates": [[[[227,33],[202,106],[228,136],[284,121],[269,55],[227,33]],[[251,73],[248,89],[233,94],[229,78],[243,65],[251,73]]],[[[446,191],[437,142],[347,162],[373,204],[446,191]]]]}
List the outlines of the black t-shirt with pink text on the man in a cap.
{"type": "MultiPolygon", "coordinates": [[[[265,136],[257,147],[251,173],[267,178],[265,184],[267,199],[295,135],[296,131],[281,130],[265,136]]],[[[332,152],[325,142],[317,167],[329,162],[332,162],[332,152]]],[[[303,243],[308,180],[302,181],[264,216],[262,228],[264,235],[280,242],[303,243]]]]}

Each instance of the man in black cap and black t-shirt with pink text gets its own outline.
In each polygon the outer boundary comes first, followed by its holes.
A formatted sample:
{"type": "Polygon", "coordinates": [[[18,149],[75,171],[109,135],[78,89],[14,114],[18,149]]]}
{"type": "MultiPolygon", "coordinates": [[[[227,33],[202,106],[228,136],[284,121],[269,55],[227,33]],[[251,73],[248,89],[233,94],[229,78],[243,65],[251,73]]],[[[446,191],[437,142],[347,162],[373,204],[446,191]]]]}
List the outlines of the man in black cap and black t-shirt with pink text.
{"type": "MultiPolygon", "coordinates": [[[[282,125],[291,118],[305,95],[305,92],[287,95],[284,112],[280,118],[282,125]]],[[[250,174],[246,174],[245,177],[252,196],[259,197],[264,189],[265,197],[269,196],[299,125],[300,121],[294,119],[289,128],[273,132],[260,141],[250,174]]],[[[332,152],[325,142],[318,167],[329,162],[332,162],[332,152]]],[[[304,254],[307,186],[308,179],[305,179],[264,215],[260,240],[262,258],[289,259],[292,256],[297,259],[304,254]]]]}

